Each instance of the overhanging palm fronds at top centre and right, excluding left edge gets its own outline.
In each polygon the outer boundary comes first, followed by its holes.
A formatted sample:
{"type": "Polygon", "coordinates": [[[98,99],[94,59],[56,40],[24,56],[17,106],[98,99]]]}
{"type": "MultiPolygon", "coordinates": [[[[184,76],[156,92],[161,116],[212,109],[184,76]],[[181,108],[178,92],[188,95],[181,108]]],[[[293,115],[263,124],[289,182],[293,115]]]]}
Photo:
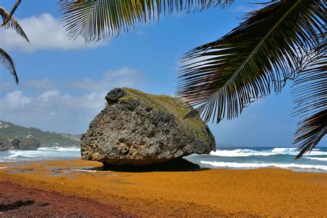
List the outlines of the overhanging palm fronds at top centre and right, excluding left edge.
{"type": "MultiPolygon", "coordinates": [[[[59,0],[59,6],[68,35],[89,42],[128,32],[163,14],[224,8],[233,2],[59,0]]],[[[295,103],[304,117],[295,134],[301,157],[326,135],[326,2],[280,0],[262,6],[221,39],[186,53],[177,96],[197,107],[186,117],[201,115],[204,122],[219,123],[293,80],[299,86],[295,103]]]]}

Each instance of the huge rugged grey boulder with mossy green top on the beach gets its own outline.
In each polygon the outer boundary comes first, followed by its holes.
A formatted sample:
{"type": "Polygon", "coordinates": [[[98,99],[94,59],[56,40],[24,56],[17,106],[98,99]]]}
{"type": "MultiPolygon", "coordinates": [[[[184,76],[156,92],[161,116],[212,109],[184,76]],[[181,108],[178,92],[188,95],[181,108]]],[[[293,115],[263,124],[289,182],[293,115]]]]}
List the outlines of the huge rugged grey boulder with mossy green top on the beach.
{"type": "Polygon", "coordinates": [[[199,117],[184,119],[190,108],[175,97],[115,88],[106,101],[81,137],[82,159],[105,166],[155,166],[215,150],[208,126],[199,117]]]}

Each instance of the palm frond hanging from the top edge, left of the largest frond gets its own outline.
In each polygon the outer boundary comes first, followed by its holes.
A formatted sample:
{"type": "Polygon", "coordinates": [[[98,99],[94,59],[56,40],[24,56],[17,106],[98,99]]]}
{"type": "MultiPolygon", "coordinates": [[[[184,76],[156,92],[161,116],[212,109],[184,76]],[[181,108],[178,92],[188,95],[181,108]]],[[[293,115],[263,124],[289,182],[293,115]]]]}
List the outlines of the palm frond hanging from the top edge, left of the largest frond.
{"type": "Polygon", "coordinates": [[[235,0],[58,0],[68,36],[99,41],[159,19],[161,14],[227,6],[235,0]]]}

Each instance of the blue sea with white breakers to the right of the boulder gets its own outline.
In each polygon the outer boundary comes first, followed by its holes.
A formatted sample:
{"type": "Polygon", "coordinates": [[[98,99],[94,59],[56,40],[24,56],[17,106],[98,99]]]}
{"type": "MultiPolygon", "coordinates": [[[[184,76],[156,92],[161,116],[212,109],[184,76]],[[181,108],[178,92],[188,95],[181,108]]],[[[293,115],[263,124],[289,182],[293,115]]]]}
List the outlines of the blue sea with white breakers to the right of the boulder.
{"type": "Polygon", "coordinates": [[[288,168],[297,171],[327,172],[327,148],[314,149],[295,159],[296,148],[217,148],[210,155],[190,155],[189,161],[207,168],[288,168]]]}

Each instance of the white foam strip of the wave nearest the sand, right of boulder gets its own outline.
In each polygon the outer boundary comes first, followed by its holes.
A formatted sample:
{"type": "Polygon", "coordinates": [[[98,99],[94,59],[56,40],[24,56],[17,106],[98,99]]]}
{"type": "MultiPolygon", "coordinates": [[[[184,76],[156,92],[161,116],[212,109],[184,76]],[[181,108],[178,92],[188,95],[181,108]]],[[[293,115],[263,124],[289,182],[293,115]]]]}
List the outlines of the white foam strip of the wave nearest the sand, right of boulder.
{"type": "Polygon", "coordinates": [[[276,164],[276,163],[236,163],[236,162],[217,162],[217,161],[201,161],[201,164],[215,166],[217,168],[299,168],[327,171],[325,165],[311,164],[276,164]]]}

